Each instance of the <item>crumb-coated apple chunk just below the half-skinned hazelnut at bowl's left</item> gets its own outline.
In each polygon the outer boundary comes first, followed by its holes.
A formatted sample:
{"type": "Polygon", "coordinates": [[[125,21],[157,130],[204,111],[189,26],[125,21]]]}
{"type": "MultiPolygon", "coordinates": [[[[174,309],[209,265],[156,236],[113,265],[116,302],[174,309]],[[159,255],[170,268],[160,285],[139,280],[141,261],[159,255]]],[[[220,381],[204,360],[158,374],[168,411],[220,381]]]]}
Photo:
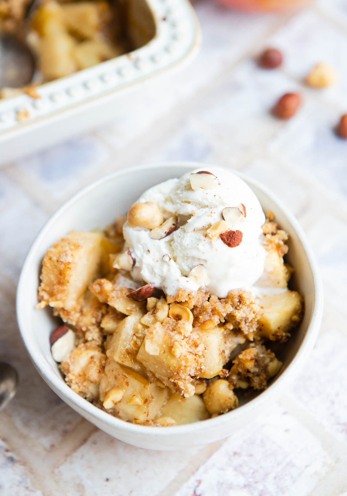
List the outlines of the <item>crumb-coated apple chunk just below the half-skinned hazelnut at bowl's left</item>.
{"type": "Polygon", "coordinates": [[[93,341],[74,348],[61,363],[61,371],[70,388],[88,401],[99,396],[99,382],[106,356],[93,341]]]}

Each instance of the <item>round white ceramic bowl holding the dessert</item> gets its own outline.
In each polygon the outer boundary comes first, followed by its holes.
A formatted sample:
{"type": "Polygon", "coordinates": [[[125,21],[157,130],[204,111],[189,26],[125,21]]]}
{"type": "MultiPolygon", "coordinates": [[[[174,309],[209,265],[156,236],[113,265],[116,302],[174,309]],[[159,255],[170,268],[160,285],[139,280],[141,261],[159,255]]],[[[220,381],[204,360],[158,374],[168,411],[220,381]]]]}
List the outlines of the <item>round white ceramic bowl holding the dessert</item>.
{"type": "Polygon", "coordinates": [[[76,412],[106,433],[135,446],[178,449],[206,444],[232,434],[258,417],[293,380],[316,340],[322,318],[323,294],[320,275],[306,237],[287,208],[264,186],[238,174],[258,196],[263,209],[272,210],[280,226],[289,233],[288,260],[295,267],[293,286],[305,298],[305,314],[283,348],[284,365],[270,387],[239,408],[203,422],[175,427],[145,427],[124,422],[99,410],[73,392],[54,362],[49,335],[57,325],[50,309],[36,310],[42,258],[48,248],[72,229],[104,227],[125,213],[148,187],[180,177],[189,169],[206,164],[165,163],[115,172],[82,189],[47,222],[31,247],[17,289],[17,320],[24,344],[38,372],[51,388],[76,412]]]}

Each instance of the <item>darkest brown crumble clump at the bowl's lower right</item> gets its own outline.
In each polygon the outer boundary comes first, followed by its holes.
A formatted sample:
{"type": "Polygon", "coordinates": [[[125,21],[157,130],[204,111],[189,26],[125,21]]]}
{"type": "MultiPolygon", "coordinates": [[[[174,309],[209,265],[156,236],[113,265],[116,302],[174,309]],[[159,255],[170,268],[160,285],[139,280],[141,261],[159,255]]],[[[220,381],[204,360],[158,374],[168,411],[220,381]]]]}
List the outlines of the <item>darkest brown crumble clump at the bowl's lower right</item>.
{"type": "Polygon", "coordinates": [[[251,343],[249,348],[241,352],[230,369],[229,381],[236,387],[245,389],[265,389],[270,377],[276,375],[282,366],[275,353],[264,345],[251,343]]]}

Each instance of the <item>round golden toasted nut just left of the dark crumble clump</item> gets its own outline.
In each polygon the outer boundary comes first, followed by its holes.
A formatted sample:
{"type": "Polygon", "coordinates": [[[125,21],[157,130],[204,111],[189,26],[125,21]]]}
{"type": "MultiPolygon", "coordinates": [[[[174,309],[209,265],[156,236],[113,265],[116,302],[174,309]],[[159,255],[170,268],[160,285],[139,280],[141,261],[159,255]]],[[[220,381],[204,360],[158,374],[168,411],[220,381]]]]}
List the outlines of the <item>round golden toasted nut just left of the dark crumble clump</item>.
{"type": "Polygon", "coordinates": [[[206,408],[211,415],[225,413],[239,404],[236,394],[225,379],[210,382],[203,394],[206,408]]]}

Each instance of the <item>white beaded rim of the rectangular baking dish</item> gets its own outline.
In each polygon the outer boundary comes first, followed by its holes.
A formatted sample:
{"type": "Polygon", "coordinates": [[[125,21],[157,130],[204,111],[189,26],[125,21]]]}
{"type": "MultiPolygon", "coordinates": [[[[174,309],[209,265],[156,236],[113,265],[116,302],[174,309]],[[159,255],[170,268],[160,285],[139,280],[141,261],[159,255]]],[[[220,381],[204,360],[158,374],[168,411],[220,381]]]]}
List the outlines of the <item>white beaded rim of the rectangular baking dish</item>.
{"type": "Polygon", "coordinates": [[[199,46],[200,29],[188,0],[146,0],[155,35],[143,47],[0,101],[0,136],[64,110],[139,83],[188,60],[199,46]],[[18,116],[25,119],[18,119],[18,116]]]}

